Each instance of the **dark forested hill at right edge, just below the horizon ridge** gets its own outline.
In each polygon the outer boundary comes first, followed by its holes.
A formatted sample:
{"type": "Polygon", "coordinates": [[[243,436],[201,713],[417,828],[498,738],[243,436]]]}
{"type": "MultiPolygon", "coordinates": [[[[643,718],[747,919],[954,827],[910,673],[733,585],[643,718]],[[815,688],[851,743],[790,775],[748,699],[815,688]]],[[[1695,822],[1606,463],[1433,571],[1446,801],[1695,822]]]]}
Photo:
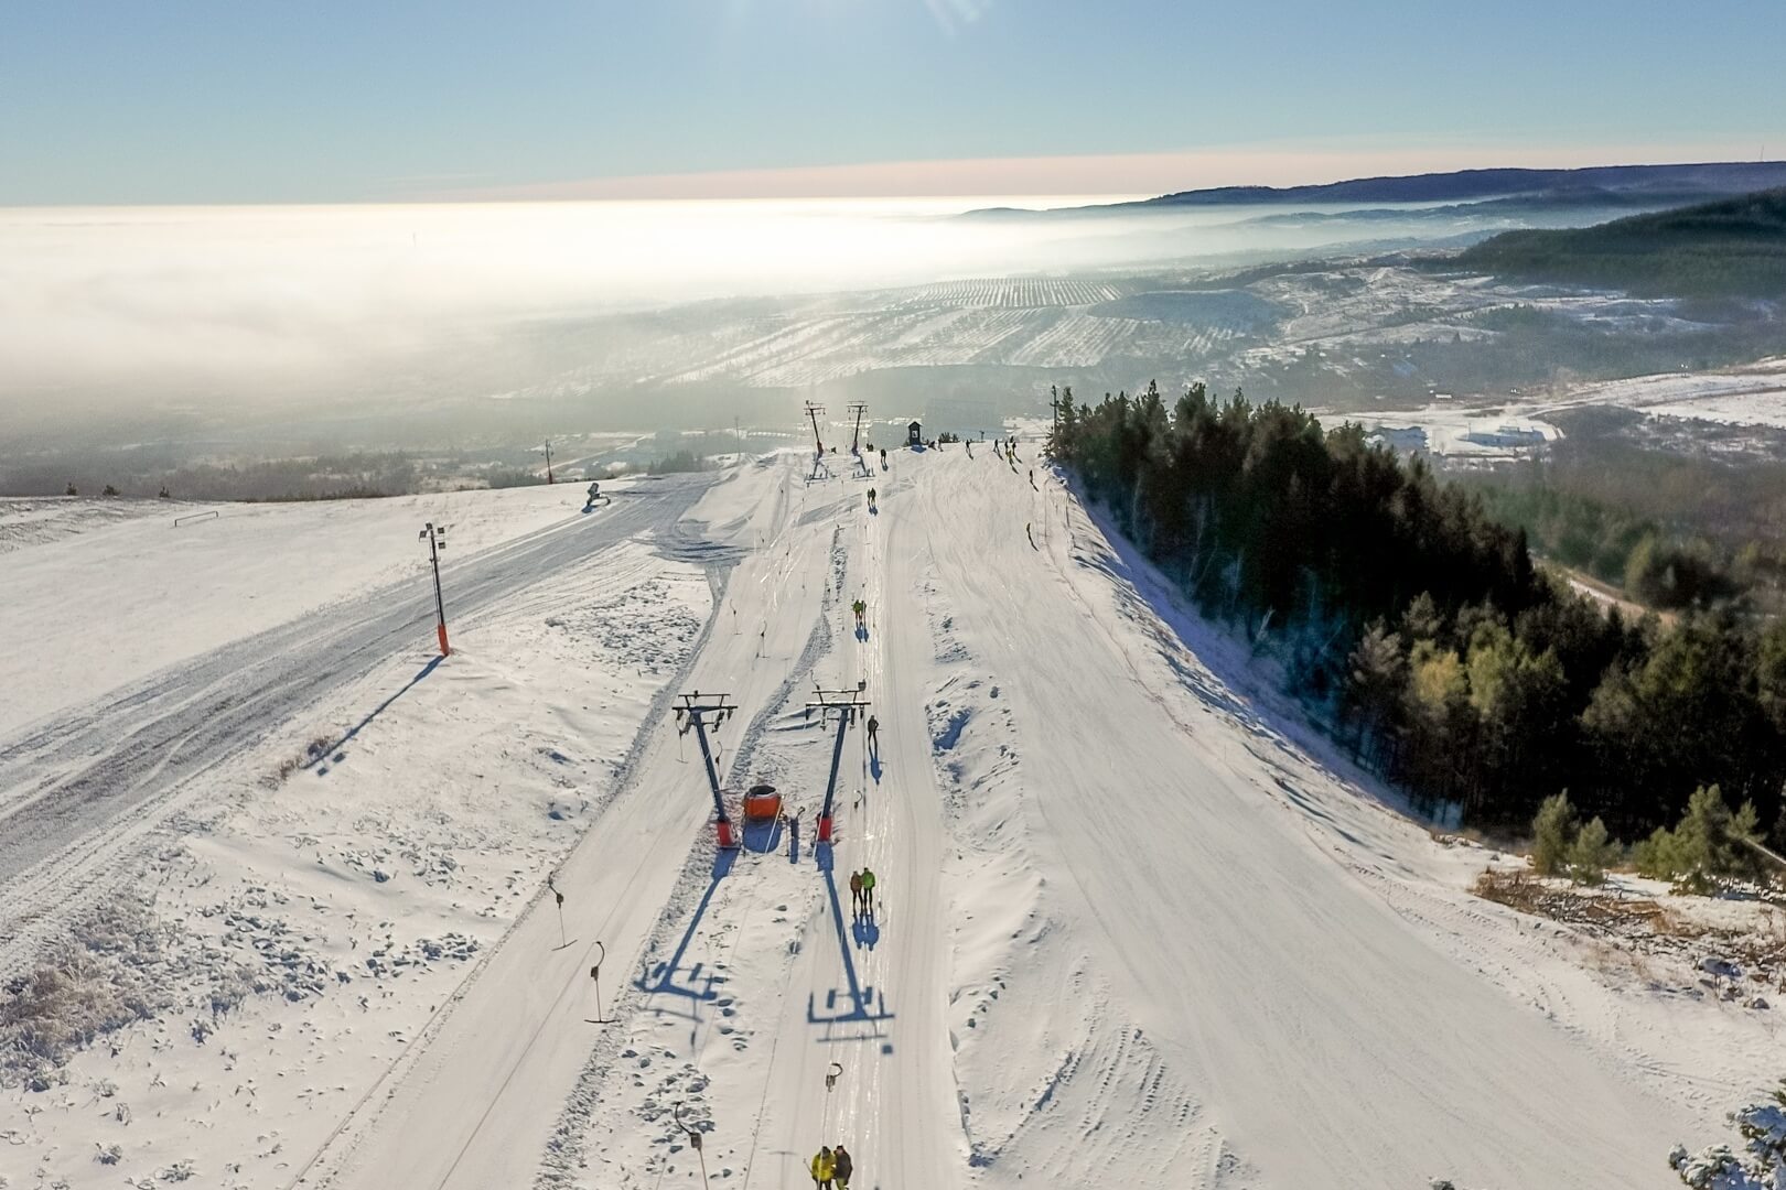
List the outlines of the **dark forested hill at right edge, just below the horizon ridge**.
{"type": "Polygon", "coordinates": [[[1573,230],[1502,232],[1456,264],[1652,296],[1786,296],[1786,189],[1573,230]]]}

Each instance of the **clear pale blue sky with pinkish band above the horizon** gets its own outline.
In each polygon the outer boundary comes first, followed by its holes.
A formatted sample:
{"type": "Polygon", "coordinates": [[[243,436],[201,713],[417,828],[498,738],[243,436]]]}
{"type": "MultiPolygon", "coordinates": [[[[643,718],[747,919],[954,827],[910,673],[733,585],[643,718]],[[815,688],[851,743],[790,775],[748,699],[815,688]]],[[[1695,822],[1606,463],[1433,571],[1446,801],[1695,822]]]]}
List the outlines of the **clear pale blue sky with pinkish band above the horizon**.
{"type": "Polygon", "coordinates": [[[7,0],[0,203],[1779,157],[1782,61],[1779,0],[7,0]]]}

